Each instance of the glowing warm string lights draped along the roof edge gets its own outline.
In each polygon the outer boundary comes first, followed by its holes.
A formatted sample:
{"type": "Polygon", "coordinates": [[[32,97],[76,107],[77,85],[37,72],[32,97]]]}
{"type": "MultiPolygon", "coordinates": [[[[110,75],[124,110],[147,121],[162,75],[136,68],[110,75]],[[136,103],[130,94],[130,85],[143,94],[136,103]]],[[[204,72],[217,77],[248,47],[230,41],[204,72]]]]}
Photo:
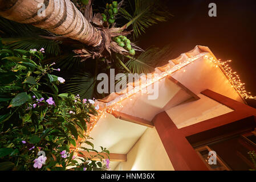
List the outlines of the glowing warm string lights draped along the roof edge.
{"type": "MultiPolygon", "coordinates": [[[[240,77],[237,75],[236,72],[232,72],[232,69],[230,67],[228,67],[228,64],[231,60],[228,61],[221,61],[221,60],[216,60],[214,59],[212,56],[208,56],[206,55],[206,53],[199,53],[196,56],[192,56],[192,57],[188,57],[187,60],[183,61],[180,64],[176,64],[173,67],[170,67],[170,65],[168,66],[169,69],[166,69],[164,72],[161,72],[159,75],[154,74],[151,78],[151,81],[147,81],[144,84],[141,84],[141,86],[133,88],[132,90],[130,90],[129,92],[115,98],[115,100],[110,101],[106,104],[106,106],[104,108],[101,108],[98,111],[97,115],[94,115],[90,118],[90,123],[91,126],[90,128],[87,130],[86,133],[84,133],[86,138],[83,138],[79,141],[79,144],[77,144],[76,148],[75,148],[75,152],[78,152],[79,147],[81,146],[81,143],[83,143],[91,134],[92,129],[94,129],[94,127],[96,126],[97,121],[99,121],[99,119],[101,117],[106,118],[107,117],[107,113],[112,114],[112,111],[119,111],[119,109],[115,109],[115,106],[119,106],[119,107],[124,107],[123,105],[121,105],[121,101],[129,98],[129,100],[133,100],[133,98],[135,98],[135,94],[141,92],[141,95],[143,95],[143,90],[147,88],[147,86],[153,84],[156,81],[162,81],[164,80],[164,78],[166,76],[171,75],[172,73],[180,70],[181,68],[185,67],[188,64],[193,64],[195,60],[197,60],[200,57],[204,57],[204,59],[209,60],[210,62],[216,64],[214,67],[218,68],[220,67],[222,69],[222,72],[224,72],[224,74],[226,75],[228,81],[230,82],[231,86],[237,91],[237,93],[242,97],[242,98],[249,98],[249,99],[255,99],[256,97],[251,96],[250,92],[247,92],[245,90],[245,84],[241,82],[240,77]],[[133,96],[133,98],[132,98],[133,96]]],[[[184,69],[184,74],[186,72],[186,70],[184,69]]]]}

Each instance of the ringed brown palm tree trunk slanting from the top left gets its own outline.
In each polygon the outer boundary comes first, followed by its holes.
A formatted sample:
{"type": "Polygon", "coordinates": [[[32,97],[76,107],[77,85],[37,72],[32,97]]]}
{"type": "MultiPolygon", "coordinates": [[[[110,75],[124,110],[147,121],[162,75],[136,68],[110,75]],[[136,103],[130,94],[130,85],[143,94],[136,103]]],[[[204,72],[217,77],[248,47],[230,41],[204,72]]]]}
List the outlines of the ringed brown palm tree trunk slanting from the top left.
{"type": "Polygon", "coordinates": [[[92,26],[70,0],[0,0],[0,16],[89,46],[100,46],[103,42],[101,31],[92,26]]]}

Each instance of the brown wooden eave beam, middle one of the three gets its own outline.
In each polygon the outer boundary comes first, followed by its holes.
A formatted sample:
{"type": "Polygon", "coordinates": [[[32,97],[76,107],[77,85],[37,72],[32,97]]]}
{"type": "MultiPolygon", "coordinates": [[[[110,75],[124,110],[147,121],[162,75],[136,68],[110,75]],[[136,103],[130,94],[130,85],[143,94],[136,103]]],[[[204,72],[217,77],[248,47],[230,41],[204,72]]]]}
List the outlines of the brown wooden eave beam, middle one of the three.
{"type": "Polygon", "coordinates": [[[129,114],[121,113],[119,111],[112,111],[111,113],[115,118],[122,119],[124,121],[136,123],[138,125],[143,125],[147,127],[154,127],[151,121],[147,121],[146,119],[138,118],[129,114]]]}

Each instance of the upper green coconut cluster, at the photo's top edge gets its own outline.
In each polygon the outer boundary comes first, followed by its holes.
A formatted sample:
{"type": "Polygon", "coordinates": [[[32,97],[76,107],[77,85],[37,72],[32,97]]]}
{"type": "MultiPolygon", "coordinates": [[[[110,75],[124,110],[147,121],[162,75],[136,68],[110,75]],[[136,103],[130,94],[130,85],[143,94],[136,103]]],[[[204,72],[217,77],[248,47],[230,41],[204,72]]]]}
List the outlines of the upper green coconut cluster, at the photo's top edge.
{"type": "Polygon", "coordinates": [[[103,22],[108,21],[109,24],[115,23],[115,15],[118,13],[117,6],[117,1],[113,1],[111,4],[106,4],[106,9],[104,10],[104,13],[101,14],[103,22]]]}

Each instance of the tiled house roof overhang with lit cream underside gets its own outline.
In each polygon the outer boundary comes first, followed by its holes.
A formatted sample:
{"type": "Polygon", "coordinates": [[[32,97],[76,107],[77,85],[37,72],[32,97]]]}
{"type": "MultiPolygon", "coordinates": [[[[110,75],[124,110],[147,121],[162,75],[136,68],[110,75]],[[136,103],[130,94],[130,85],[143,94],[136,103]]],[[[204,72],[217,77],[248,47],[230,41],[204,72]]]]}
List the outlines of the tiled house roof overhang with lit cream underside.
{"type": "MultiPolygon", "coordinates": [[[[127,154],[144,131],[151,127],[156,114],[200,99],[198,96],[205,89],[243,102],[223,70],[207,57],[216,59],[208,47],[196,46],[192,51],[169,60],[168,64],[157,67],[152,82],[143,85],[148,88],[153,82],[159,82],[157,100],[148,100],[148,94],[142,94],[135,86],[136,81],[128,83],[127,89],[121,92],[97,100],[99,115],[92,117],[92,125],[88,127],[94,145],[107,147],[111,153],[127,154]]],[[[111,163],[112,169],[117,163],[111,163]]]]}

